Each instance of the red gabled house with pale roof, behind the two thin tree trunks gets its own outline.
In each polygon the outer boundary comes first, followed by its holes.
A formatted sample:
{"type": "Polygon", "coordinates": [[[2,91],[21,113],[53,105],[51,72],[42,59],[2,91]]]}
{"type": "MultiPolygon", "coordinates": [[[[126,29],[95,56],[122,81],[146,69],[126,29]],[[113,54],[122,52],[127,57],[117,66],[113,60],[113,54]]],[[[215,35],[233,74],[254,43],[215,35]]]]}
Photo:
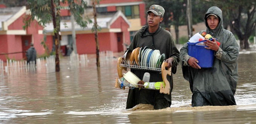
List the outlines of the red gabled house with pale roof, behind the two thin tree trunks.
{"type": "MultiPolygon", "coordinates": [[[[91,18],[93,21],[93,18],[91,18]]],[[[123,51],[123,42],[130,42],[130,33],[128,28],[130,23],[122,12],[111,12],[97,15],[97,23],[101,27],[98,32],[100,51],[123,51]]],[[[96,42],[94,33],[91,31],[93,24],[88,24],[87,28],[82,29],[75,24],[76,47],[78,54],[96,53],[96,42]]],[[[72,45],[72,24],[70,20],[61,20],[61,46],[72,45]],[[65,23],[65,24],[64,24],[65,23]]],[[[53,41],[53,24],[47,24],[47,41],[53,41]]],[[[51,48],[51,47],[49,47],[51,48]]]]}

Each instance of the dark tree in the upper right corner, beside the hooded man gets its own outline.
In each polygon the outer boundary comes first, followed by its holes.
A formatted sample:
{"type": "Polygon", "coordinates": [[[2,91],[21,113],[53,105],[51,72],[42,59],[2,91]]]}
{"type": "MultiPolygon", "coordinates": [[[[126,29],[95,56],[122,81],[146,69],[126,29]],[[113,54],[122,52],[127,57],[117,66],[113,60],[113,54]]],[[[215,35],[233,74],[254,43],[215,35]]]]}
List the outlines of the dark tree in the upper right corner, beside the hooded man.
{"type": "Polygon", "coordinates": [[[254,34],[256,26],[255,0],[215,0],[223,13],[223,17],[240,40],[240,47],[250,48],[248,39],[254,34]]]}

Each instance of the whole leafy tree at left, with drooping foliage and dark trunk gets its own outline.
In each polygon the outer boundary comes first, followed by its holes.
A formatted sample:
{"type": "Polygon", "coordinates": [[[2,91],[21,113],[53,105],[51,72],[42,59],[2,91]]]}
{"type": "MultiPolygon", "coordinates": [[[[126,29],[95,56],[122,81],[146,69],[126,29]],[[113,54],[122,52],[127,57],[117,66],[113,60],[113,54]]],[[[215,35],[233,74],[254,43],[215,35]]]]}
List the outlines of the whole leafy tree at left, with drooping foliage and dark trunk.
{"type": "MultiPolygon", "coordinates": [[[[62,3],[66,4],[70,8],[70,12],[74,15],[76,23],[82,28],[87,27],[87,23],[90,20],[83,20],[82,14],[84,14],[84,8],[87,7],[84,0],[62,0],[62,3]]],[[[55,42],[55,71],[60,71],[59,68],[59,31],[60,31],[60,0],[27,0],[27,6],[30,8],[30,15],[24,18],[26,29],[30,26],[30,22],[37,20],[41,26],[46,26],[47,23],[53,22],[54,27],[54,42],[55,42]],[[56,11],[55,11],[56,10],[56,11]]]]}

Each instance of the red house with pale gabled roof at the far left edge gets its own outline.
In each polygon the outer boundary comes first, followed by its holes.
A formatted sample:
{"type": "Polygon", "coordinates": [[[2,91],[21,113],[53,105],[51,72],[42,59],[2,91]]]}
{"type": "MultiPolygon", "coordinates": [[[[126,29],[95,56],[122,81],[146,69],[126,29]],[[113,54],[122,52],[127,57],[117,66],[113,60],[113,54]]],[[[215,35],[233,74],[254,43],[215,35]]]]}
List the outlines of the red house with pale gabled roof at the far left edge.
{"type": "Polygon", "coordinates": [[[33,21],[29,28],[23,30],[23,18],[26,12],[26,6],[0,8],[0,59],[3,61],[8,58],[15,60],[25,59],[24,51],[30,47],[30,42],[34,43],[37,54],[45,52],[41,45],[43,27],[33,21]]]}

